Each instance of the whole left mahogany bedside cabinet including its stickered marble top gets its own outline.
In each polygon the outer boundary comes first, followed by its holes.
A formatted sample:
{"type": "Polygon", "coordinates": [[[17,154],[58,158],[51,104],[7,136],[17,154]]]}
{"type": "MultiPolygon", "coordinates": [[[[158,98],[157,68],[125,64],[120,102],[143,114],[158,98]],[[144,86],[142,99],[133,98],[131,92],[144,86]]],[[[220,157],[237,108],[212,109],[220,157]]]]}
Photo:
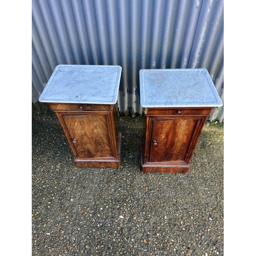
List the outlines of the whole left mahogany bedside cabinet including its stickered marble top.
{"type": "Polygon", "coordinates": [[[121,70],[108,65],[58,65],[39,97],[56,113],[77,167],[120,167],[121,70]]]}

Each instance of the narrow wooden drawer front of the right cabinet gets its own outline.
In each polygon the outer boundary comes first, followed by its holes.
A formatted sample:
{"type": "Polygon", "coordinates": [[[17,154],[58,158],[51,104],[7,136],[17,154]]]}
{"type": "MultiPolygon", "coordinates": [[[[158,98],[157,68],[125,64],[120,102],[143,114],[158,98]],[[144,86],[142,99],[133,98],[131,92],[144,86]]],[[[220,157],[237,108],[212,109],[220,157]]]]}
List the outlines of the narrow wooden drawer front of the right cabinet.
{"type": "Polygon", "coordinates": [[[147,108],[145,114],[158,116],[209,115],[211,110],[212,108],[147,108]]]}

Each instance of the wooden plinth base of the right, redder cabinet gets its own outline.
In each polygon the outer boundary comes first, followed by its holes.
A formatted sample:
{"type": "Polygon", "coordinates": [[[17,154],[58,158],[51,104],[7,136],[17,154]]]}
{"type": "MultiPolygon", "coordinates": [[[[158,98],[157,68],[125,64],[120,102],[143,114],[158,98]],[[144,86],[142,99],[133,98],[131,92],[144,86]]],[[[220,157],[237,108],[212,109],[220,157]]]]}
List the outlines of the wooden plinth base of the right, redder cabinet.
{"type": "Polygon", "coordinates": [[[141,170],[143,173],[184,173],[188,172],[190,164],[181,163],[168,164],[168,163],[143,163],[144,162],[144,150],[143,142],[140,140],[140,159],[141,170]]]}

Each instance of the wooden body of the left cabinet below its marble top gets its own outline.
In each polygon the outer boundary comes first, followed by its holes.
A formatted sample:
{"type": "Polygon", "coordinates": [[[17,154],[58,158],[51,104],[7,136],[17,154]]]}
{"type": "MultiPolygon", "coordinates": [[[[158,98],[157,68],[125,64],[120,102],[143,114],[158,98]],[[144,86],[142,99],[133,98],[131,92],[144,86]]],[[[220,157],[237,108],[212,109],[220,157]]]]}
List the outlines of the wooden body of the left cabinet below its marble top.
{"type": "Polygon", "coordinates": [[[120,167],[116,105],[49,104],[56,112],[77,167],[120,167]]]}

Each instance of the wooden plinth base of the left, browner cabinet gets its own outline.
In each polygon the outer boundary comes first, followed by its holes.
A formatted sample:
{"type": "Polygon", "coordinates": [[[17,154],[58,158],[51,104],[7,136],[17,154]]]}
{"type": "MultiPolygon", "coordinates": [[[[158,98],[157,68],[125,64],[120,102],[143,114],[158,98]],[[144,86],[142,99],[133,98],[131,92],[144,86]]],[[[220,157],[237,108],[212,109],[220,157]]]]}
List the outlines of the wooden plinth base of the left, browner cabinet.
{"type": "Polygon", "coordinates": [[[118,134],[118,141],[117,141],[117,154],[118,158],[114,157],[105,157],[105,158],[92,158],[92,159],[80,159],[75,158],[74,162],[76,167],[84,168],[84,167],[116,167],[119,168],[121,166],[121,141],[122,141],[122,134],[118,134]]]}

